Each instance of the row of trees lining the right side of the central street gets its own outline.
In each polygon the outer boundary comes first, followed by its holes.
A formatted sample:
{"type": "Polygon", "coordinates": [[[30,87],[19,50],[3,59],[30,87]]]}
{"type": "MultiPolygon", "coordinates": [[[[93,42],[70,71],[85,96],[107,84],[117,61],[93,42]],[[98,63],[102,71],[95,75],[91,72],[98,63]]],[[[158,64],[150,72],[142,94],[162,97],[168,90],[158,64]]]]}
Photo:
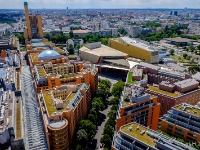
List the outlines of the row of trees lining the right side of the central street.
{"type": "Polygon", "coordinates": [[[124,88],[124,82],[119,81],[113,85],[112,95],[115,97],[109,101],[109,105],[112,105],[111,110],[108,113],[108,121],[106,122],[103,129],[103,136],[100,139],[100,142],[104,145],[104,150],[110,150],[112,145],[113,134],[115,131],[115,120],[119,104],[119,97],[124,88]]]}

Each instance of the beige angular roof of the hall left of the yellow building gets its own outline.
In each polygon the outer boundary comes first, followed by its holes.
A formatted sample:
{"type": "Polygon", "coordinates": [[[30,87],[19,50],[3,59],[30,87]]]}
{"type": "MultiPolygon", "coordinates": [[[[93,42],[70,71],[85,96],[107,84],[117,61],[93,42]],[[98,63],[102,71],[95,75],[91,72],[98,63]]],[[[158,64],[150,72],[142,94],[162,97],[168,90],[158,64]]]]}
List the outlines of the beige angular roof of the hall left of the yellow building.
{"type": "Polygon", "coordinates": [[[96,56],[102,56],[102,57],[104,57],[104,56],[110,56],[110,57],[128,56],[128,54],[126,54],[126,53],[120,52],[118,50],[115,50],[111,47],[108,47],[108,46],[105,46],[105,45],[102,45],[102,44],[101,44],[101,47],[98,47],[98,48],[95,48],[95,49],[89,49],[89,48],[83,46],[83,47],[80,48],[80,52],[81,51],[89,53],[89,54],[93,54],[93,55],[96,55],[96,56]]]}

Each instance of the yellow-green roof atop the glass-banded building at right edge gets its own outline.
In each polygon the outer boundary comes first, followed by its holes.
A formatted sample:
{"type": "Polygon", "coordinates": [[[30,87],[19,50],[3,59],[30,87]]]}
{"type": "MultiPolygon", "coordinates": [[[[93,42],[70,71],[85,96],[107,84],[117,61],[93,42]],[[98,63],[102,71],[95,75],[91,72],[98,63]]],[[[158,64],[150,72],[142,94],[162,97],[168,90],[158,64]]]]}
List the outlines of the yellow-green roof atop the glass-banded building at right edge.
{"type": "Polygon", "coordinates": [[[178,111],[183,111],[185,113],[188,113],[188,114],[191,114],[191,115],[194,115],[197,117],[200,116],[200,108],[198,108],[197,106],[194,106],[194,105],[183,103],[183,104],[174,106],[173,108],[178,111]]]}

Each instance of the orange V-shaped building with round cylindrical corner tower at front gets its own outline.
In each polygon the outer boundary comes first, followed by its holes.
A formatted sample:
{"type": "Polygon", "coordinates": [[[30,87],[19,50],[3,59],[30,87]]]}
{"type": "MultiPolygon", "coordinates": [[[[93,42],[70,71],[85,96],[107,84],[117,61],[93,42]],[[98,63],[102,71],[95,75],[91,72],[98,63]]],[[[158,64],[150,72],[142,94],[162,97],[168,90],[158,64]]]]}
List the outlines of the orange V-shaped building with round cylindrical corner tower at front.
{"type": "Polygon", "coordinates": [[[74,144],[79,121],[88,113],[90,87],[86,84],[62,85],[43,90],[38,96],[49,149],[69,150],[74,144]]]}

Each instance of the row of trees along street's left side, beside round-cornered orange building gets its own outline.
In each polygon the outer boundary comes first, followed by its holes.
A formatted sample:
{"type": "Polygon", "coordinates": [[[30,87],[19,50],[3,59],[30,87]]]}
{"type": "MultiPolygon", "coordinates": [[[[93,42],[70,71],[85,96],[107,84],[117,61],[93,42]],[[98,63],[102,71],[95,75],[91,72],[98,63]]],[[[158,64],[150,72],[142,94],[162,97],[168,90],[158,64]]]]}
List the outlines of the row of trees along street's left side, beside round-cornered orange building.
{"type": "Polygon", "coordinates": [[[105,109],[105,100],[110,95],[111,82],[109,80],[99,80],[96,97],[92,99],[92,107],[86,120],[80,122],[76,135],[76,150],[85,150],[89,141],[96,133],[100,112],[105,109]]]}

